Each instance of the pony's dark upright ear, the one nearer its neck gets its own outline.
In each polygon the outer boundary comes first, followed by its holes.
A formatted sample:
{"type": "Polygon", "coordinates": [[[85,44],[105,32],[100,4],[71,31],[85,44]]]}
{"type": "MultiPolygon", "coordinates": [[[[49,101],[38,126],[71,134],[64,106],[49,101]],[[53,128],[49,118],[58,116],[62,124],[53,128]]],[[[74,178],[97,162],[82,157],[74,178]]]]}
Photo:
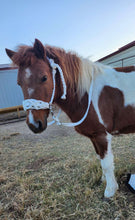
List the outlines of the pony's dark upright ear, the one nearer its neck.
{"type": "Polygon", "coordinates": [[[34,53],[36,57],[39,59],[44,59],[45,57],[44,46],[38,39],[35,39],[35,42],[34,42],[34,53]]]}

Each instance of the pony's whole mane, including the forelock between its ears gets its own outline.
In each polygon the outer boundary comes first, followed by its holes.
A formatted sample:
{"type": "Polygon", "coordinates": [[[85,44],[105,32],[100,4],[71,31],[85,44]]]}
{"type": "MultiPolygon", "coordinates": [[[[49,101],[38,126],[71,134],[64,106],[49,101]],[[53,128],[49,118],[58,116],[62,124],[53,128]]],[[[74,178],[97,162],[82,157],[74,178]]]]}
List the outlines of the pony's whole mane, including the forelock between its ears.
{"type": "MultiPolygon", "coordinates": [[[[79,96],[89,92],[92,72],[94,78],[103,73],[105,65],[95,63],[89,59],[82,58],[74,52],[66,52],[64,49],[45,45],[45,60],[48,58],[60,65],[66,84],[70,89],[75,89],[79,96]]],[[[32,46],[19,46],[17,53],[14,55],[14,63],[28,67],[35,61],[34,49],[32,46]]]]}

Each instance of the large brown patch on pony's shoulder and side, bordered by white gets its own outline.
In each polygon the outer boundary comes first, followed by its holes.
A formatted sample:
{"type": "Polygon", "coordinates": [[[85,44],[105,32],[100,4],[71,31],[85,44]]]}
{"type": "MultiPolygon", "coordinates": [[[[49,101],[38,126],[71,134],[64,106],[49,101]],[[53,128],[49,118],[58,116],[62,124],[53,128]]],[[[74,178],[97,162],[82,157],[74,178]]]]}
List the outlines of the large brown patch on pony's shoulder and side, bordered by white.
{"type": "Polygon", "coordinates": [[[112,134],[135,132],[135,110],[124,106],[123,93],[116,88],[105,86],[99,97],[100,113],[107,131],[112,134]]]}

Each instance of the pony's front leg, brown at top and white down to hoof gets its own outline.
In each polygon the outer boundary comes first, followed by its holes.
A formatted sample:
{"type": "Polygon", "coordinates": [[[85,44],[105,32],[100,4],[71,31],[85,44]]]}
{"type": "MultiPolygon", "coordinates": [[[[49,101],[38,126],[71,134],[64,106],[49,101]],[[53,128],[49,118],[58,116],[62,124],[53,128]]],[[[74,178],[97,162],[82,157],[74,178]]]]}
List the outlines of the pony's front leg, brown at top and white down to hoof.
{"type": "Polygon", "coordinates": [[[118,189],[118,184],[114,176],[114,162],[111,151],[111,135],[102,134],[91,139],[96,152],[101,158],[101,167],[103,171],[102,180],[106,181],[106,189],[104,196],[106,198],[112,197],[118,189]]]}

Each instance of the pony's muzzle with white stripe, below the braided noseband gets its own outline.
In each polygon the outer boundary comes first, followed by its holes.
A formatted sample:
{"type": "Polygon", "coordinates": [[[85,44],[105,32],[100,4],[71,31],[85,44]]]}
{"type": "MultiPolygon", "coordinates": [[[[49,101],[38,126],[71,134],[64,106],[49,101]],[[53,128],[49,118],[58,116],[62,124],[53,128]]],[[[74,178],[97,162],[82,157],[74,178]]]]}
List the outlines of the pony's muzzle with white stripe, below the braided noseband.
{"type": "Polygon", "coordinates": [[[37,115],[39,115],[39,111],[29,110],[26,122],[31,131],[34,133],[41,133],[47,128],[47,115],[42,114],[42,117],[36,117],[37,115]]]}

